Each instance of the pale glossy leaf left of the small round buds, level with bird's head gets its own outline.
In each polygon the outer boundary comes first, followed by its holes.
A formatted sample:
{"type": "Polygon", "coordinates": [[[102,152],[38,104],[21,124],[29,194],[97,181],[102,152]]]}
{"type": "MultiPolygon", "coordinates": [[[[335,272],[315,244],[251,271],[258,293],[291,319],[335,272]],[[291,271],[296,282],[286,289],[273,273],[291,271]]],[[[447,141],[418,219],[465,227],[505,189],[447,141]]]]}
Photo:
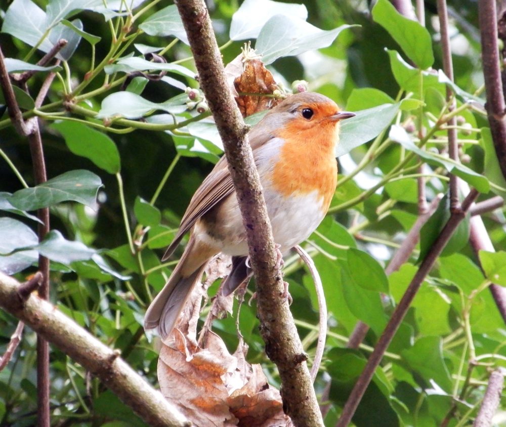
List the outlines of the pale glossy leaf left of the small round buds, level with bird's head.
{"type": "MultiPolygon", "coordinates": [[[[186,95],[185,95],[186,97],[186,95]]],[[[132,92],[116,92],[104,98],[97,118],[123,116],[125,118],[139,118],[153,110],[163,110],[178,114],[186,110],[184,99],[174,97],[163,103],[148,101],[132,92]]]]}

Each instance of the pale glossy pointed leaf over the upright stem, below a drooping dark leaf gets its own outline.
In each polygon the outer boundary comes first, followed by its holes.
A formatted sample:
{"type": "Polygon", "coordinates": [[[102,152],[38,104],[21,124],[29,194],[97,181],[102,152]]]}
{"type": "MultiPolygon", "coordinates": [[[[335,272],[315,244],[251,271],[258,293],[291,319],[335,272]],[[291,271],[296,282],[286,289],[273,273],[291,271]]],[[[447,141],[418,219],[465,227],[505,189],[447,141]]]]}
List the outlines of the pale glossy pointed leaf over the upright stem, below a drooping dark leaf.
{"type": "Polygon", "coordinates": [[[58,230],[51,230],[34,249],[50,260],[63,265],[69,265],[74,261],[89,260],[97,252],[81,242],[65,239],[58,230]]]}

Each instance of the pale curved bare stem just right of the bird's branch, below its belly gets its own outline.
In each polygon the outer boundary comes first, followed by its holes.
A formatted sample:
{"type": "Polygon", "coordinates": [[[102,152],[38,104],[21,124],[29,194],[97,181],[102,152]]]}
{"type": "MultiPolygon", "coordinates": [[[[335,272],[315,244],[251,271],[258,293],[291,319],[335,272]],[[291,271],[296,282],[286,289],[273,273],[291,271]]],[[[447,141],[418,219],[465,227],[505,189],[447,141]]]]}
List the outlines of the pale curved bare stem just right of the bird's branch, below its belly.
{"type": "Polygon", "coordinates": [[[325,302],[325,294],[323,292],[323,284],[321,283],[320,275],[316,269],[315,263],[301,246],[297,245],[294,247],[302,261],[308,266],[311,277],[315,284],[316,297],[318,299],[318,314],[319,314],[319,330],[318,330],[318,343],[316,344],[316,352],[313,360],[313,366],[311,367],[311,379],[316,379],[318,370],[320,369],[321,359],[323,357],[323,351],[325,350],[325,340],[327,338],[327,303],[325,302]]]}

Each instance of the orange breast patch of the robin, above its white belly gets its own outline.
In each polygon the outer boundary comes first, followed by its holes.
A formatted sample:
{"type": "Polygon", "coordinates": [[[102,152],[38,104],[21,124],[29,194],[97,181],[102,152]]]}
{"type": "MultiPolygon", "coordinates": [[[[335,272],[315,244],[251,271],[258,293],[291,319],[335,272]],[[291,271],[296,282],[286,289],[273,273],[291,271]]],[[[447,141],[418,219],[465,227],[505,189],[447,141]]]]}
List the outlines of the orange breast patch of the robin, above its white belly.
{"type": "Polygon", "coordinates": [[[334,147],[338,138],[335,123],[301,127],[296,120],[287,123],[277,137],[287,141],[274,166],[273,187],[284,196],[318,191],[327,211],[337,182],[338,167],[334,147]]]}

